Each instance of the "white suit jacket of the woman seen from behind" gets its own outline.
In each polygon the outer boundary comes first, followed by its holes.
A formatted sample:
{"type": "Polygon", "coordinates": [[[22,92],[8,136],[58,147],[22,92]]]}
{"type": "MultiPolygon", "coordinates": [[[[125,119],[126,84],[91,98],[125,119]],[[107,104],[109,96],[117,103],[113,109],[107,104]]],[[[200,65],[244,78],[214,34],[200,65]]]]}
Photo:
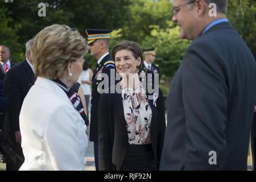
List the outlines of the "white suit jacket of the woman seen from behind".
{"type": "Polygon", "coordinates": [[[38,77],[19,115],[25,157],[20,170],[84,170],[86,125],[67,94],[38,77]]]}

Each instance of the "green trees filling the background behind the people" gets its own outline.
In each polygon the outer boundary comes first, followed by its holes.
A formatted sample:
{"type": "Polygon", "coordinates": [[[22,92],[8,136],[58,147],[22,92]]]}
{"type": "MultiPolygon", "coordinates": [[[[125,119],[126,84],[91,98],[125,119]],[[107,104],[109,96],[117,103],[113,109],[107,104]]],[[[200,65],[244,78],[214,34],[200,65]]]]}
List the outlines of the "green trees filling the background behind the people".
{"type": "MultiPolygon", "coordinates": [[[[190,42],[179,38],[172,23],[170,0],[49,0],[46,17],[38,16],[39,0],[0,0],[0,44],[11,48],[14,61],[24,59],[24,44],[44,27],[67,24],[85,35],[85,28],[113,29],[110,53],[121,40],[133,40],[142,48],[156,48],[161,86],[170,84],[190,42]]],[[[228,19],[256,56],[256,1],[228,1],[228,19]]],[[[86,55],[94,69],[97,60],[86,55]]],[[[163,90],[166,90],[163,88],[163,90]]]]}

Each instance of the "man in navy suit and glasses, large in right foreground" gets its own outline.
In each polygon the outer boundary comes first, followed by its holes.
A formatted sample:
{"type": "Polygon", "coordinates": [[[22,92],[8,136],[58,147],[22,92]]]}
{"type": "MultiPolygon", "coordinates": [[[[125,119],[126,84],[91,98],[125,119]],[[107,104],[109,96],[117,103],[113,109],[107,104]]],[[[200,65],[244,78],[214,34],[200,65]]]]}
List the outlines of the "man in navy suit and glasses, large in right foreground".
{"type": "Polygon", "coordinates": [[[227,3],[174,0],[172,20],[193,42],[171,85],[162,170],[247,169],[256,63],[226,19],[227,3]]]}

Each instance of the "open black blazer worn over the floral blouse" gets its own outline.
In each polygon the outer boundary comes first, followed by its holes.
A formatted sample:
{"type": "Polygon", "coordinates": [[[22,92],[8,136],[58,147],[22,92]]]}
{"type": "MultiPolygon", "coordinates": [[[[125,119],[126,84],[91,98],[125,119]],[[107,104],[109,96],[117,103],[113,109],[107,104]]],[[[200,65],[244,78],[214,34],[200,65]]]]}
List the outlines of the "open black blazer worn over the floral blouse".
{"type": "MultiPolygon", "coordinates": [[[[148,97],[148,93],[147,93],[148,97]]],[[[164,116],[163,93],[159,90],[157,107],[148,100],[152,110],[150,139],[155,162],[162,154],[166,121],[164,116]]],[[[112,163],[122,166],[128,145],[128,133],[123,114],[122,94],[101,94],[98,108],[98,164],[99,170],[110,170],[112,163]]]]}

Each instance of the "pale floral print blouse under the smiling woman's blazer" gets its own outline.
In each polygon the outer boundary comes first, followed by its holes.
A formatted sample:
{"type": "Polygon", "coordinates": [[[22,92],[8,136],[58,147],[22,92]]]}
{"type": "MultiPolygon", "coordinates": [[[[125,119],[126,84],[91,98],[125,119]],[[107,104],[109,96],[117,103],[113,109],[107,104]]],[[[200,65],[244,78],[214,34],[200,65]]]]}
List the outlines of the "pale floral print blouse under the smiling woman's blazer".
{"type": "Polygon", "coordinates": [[[148,104],[146,92],[142,84],[135,90],[122,86],[123,111],[125,114],[128,143],[148,144],[150,141],[150,126],[152,110],[148,104]]]}

